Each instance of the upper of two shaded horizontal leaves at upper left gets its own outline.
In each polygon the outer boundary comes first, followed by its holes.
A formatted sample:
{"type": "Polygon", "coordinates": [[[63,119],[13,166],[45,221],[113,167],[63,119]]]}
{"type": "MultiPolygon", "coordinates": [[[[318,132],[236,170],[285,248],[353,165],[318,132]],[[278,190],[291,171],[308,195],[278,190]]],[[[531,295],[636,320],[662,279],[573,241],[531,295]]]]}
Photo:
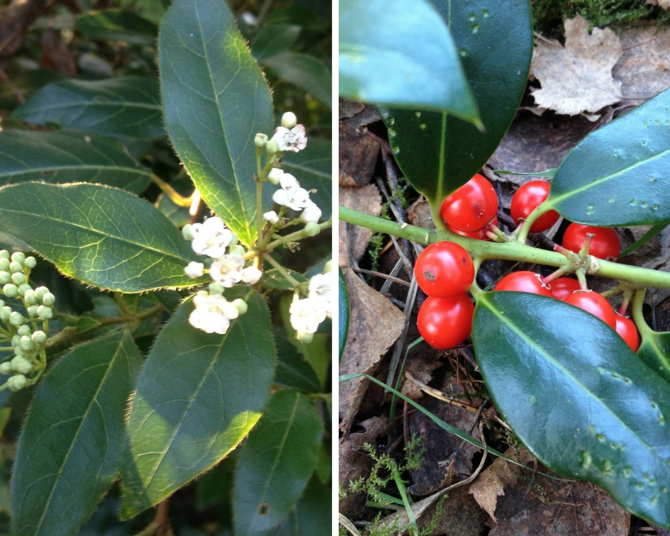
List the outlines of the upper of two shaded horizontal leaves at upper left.
{"type": "Polygon", "coordinates": [[[12,116],[121,138],[150,139],[165,133],[158,84],[141,77],[54,82],[12,116]]]}

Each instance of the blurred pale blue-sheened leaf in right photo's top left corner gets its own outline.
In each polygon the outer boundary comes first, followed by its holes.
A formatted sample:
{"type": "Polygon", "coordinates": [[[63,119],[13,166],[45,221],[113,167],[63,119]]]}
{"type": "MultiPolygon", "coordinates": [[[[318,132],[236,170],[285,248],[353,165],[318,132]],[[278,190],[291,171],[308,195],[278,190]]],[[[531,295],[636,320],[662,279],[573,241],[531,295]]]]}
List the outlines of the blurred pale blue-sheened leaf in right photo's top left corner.
{"type": "Polygon", "coordinates": [[[340,95],[479,120],[444,19],[425,0],[340,1],[340,95]]]}

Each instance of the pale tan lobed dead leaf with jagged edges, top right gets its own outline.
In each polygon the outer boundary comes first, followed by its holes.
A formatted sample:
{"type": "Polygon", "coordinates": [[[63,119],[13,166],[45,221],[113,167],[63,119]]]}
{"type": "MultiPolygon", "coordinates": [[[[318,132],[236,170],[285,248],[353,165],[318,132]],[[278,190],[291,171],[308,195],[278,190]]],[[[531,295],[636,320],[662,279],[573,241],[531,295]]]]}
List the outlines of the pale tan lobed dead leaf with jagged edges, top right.
{"type": "Polygon", "coordinates": [[[612,77],[622,53],[617,35],[609,28],[588,35],[588,21],[580,15],[564,25],[565,47],[537,40],[531,65],[542,84],[532,90],[537,106],[575,116],[620,101],[621,82],[612,77]]]}

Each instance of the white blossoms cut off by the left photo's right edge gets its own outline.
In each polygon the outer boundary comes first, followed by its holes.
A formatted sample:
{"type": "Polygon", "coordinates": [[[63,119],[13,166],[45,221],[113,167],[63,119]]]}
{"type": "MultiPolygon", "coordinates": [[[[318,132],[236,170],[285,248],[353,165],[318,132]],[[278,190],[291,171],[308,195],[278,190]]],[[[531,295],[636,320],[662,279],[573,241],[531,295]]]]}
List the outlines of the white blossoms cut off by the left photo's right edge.
{"type": "Polygon", "coordinates": [[[333,318],[333,272],[330,262],[323,274],[316,274],[309,281],[309,294],[302,298],[294,295],[289,313],[291,326],[296,330],[296,337],[302,342],[311,342],[319,324],[326,317],[333,318]]]}

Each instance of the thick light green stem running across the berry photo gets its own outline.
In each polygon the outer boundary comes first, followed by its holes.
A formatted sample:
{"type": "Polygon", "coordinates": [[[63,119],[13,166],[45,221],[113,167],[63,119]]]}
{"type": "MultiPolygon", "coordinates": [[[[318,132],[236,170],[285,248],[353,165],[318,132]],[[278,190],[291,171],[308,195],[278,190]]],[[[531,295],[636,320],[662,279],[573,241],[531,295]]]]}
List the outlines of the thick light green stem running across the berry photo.
{"type": "MultiPolygon", "coordinates": [[[[363,214],[342,206],[340,206],[340,220],[353,223],[354,225],[362,225],[379,233],[407,238],[421,245],[450,240],[462,245],[470,253],[471,257],[480,257],[482,260],[502,259],[517,262],[532,262],[557,268],[565,264],[564,255],[553,251],[538,250],[535,247],[524,245],[522,242],[500,244],[475,240],[474,238],[454,235],[453,233],[447,235],[447,233],[442,231],[423,229],[414,225],[406,225],[401,228],[400,223],[376,218],[376,216],[369,216],[369,214],[363,214]]],[[[617,264],[616,262],[598,259],[597,267],[588,273],[601,277],[609,277],[610,279],[629,281],[636,288],[653,286],[661,289],[670,289],[670,272],[660,272],[659,270],[617,264]]]]}

